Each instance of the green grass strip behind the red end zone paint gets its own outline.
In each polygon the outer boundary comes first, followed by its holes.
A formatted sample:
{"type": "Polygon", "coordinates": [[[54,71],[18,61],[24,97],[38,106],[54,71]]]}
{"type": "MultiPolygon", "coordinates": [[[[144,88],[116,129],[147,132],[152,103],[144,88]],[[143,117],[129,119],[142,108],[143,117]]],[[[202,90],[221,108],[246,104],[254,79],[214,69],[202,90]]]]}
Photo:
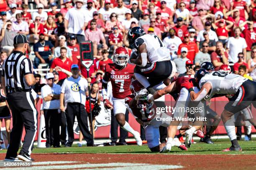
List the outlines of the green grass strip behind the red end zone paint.
{"type": "MultiPolygon", "coordinates": [[[[197,141],[196,141],[197,142],[197,141]]],[[[215,141],[214,144],[206,144],[197,142],[192,144],[187,151],[182,151],[177,147],[172,148],[169,154],[256,154],[256,138],[251,141],[239,141],[242,152],[222,152],[223,149],[230,147],[228,139],[215,141]]],[[[35,146],[36,147],[36,146],[35,146]]],[[[6,150],[0,150],[0,153],[5,153],[6,150]]],[[[151,151],[147,145],[141,147],[137,145],[125,146],[104,146],[104,147],[77,147],[73,145],[69,148],[34,148],[33,153],[133,153],[133,154],[148,154],[151,151]]]]}

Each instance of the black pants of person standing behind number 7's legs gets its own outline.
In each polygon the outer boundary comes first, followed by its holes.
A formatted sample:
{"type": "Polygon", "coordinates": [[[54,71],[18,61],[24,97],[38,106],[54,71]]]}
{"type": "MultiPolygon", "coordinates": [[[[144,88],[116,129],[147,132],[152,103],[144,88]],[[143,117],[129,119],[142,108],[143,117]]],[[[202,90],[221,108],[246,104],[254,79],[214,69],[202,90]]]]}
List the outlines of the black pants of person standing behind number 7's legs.
{"type": "MultiPolygon", "coordinates": [[[[125,121],[129,121],[129,111],[126,109],[125,112],[125,121]]],[[[111,142],[117,142],[118,140],[118,121],[115,118],[114,111],[111,110],[111,126],[110,126],[110,140],[111,142]]],[[[125,143],[125,139],[128,137],[128,132],[126,130],[123,130],[123,128],[120,128],[120,143],[125,143]]]]}

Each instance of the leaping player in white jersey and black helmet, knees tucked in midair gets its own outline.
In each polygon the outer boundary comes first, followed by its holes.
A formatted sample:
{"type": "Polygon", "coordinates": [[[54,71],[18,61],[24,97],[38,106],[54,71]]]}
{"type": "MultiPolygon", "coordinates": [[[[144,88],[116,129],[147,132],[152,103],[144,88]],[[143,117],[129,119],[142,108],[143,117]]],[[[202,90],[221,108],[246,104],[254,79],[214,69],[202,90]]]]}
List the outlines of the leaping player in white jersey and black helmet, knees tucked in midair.
{"type": "Polygon", "coordinates": [[[164,80],[172,73],[169,50],[155,34],[146,34],[140,27],[128,31],[128,42],[137,52],[131,55],[131,62],[136,64],[136,79],[151,93],[163,89],[164,80]],[[148,77],[148,78],[147,78],[148,77]]]}

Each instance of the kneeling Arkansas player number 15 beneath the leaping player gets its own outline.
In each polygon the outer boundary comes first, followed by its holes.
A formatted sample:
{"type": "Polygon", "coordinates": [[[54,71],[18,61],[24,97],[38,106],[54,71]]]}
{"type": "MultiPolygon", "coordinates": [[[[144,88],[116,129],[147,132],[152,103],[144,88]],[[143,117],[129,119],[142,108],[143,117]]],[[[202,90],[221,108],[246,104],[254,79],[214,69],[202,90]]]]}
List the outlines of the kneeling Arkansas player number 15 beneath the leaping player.
{"type": "MultiPolygon", "coordinates": [[[[159,126],[169,127],[170,121],[163,121],[161,118],[167,118],[164,112],[157,114],[154,109],[154,102],[148,102],[148,91],[141,85],[138,80],[134,80],[130,85],[133,95],[128,95],[125,98],[125,102],[133,111],[133,115],[136,117],[138,123],[145,128],[145,136],[148,143],[148,148],[152,152],[162,152],[165,144],[160,144],[159,126]]],[[[186,146],[179,142],[178,138],[175,138],[172,146],[177,146],[181,150],[187,150],[186,146]]]]}

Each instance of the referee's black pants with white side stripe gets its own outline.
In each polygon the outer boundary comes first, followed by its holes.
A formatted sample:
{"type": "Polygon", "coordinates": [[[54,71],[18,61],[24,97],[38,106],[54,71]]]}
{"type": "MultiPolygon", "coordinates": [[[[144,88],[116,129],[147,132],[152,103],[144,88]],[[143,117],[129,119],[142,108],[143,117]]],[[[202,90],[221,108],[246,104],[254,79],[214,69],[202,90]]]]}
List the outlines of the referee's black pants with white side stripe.
{"type": "Polygon", "coordinates": [[[10,133],[10,145],[6,158],[17,156],[23,126],[25,126],[26,134],[20,153],[30,155],[36,137],[38,116],[33,96],[31,92],[14,92],[7,94],[6,99],[13,115],[13,129],[10,133]]]}

